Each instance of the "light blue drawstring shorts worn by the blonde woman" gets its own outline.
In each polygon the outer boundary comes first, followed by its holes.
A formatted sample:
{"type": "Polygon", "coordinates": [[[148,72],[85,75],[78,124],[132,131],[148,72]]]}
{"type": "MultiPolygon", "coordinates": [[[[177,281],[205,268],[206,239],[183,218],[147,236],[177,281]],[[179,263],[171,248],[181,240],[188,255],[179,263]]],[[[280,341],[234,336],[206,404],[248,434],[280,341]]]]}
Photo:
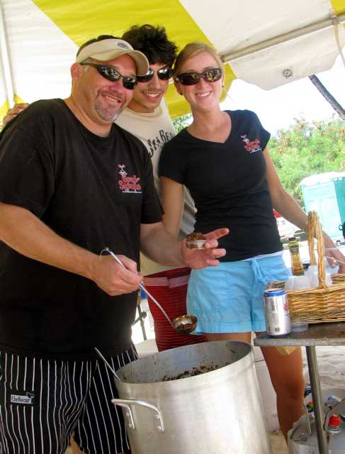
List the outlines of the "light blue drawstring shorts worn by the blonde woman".
{"type": "Polygon", "coordinates": [[[266,331],[264,289],[288,275],[281,255],[192,270],[187,312],[198,317],[193,334],[266,331]]]}

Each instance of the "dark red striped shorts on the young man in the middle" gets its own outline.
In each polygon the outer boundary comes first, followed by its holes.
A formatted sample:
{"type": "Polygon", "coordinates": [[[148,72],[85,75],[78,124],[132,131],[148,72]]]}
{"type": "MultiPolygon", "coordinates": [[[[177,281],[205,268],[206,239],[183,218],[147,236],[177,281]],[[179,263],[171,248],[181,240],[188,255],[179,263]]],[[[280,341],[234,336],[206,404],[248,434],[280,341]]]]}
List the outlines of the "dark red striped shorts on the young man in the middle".
{"type": "MultiPolygon", "coordinates": [[[[177,268],[176,270],[157,272],[154,275],[144,277],[145,287],[152,294],[152,297],[157,299],[171,320],[187,314],[186,297],[190,275],[191,269],[184,267],[177,268]]],[[[158,351],[207,342],[205,336],[193,336],[193,334],[183,336],[182,334],[176,333],[171,328],[169,321],[166,320],[157,304],[154,304],[149,297],[147,301],[154,319],[154,333],[156,335],[158,351]]]]}

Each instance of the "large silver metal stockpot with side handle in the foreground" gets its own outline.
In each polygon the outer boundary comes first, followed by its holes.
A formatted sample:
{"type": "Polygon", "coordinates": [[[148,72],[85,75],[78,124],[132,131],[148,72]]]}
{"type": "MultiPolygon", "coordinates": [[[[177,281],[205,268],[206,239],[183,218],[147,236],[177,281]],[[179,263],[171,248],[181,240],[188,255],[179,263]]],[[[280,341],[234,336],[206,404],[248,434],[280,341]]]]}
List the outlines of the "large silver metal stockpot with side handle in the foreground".
{"type": "Polygon", "coordinates": [[[250,344],[187,345],[117,374],[132,454],[272,453],[250,344]]]}

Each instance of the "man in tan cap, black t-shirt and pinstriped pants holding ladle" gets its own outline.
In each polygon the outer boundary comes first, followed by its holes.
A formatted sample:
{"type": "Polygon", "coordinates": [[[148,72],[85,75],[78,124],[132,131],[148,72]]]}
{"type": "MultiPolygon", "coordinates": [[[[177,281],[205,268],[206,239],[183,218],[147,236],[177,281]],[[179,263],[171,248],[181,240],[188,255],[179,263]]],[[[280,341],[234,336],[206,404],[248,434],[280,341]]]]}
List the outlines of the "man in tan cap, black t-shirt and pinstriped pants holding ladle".
{"type": "Polygon", "coordinates": [[[198,253],[165,230],[147,150],[113,123],[148,69],[125,41],[91,40],[71,67],[71,96],[31,104],[0,135],[1,452],[62,454],[81,418],[82,451],[128,451],[94,348],[114,370],[137,358],[140,248],[194,268],[225,253],[226,230],[198,253]]]}

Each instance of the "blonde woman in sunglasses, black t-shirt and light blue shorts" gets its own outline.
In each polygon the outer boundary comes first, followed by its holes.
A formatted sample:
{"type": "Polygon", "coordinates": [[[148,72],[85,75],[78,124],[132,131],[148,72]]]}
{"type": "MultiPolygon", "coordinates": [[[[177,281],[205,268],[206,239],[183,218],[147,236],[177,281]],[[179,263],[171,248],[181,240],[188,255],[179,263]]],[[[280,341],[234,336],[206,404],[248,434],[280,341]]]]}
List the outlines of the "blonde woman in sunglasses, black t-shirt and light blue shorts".
{"type": "MultiPolygon", "coordinates": [[[[270,134],[256,114],[220,110],[225,69],[215,50],[203,43],[186,45],[173,77],[177,92],[191,104],[193,123],[172,138],[161,155],[164,224],[174,235],[179,231],[186,185],[197,208],[194,230],[230,229],[219,240],[227,250],[220,265],[191,273],[188,314],[198,316],[197,333],[205,333],[208,341],[250,342],[251,331],[266,331],[267,282],[288,277],[273,208],[305,230],[307,216],[283,189],[267,148],[270,134]]],[[[326,234],[324,239],[326,247],[333,246],[326,234]]],[[[333,256],[342,257],[338,251],[333,256]]],[[[335,267],[333,260],[331,266],[335,267]]],[[[288,356],[279,355],[276,348],[262,352],[287,439],[302,415],[301,350],[288,356]]]]}

